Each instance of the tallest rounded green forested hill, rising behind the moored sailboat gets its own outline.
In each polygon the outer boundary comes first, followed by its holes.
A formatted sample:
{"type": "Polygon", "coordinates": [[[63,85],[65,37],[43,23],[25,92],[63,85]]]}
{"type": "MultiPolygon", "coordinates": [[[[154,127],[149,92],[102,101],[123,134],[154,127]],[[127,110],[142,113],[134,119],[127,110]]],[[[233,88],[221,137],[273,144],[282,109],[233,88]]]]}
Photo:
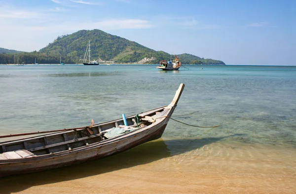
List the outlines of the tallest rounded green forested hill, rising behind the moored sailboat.
{"type": "MultiPolygon", "coordinates": [[[[135,63],[145,57],[155,57],[156,51],[137,42],[110,35],[101,30],[81,30],[71,35],[58,37],[40,53],[71,57],[76,63],[82,63],[88,41],[91,44],[91,60],[116,61],[116,63],[135,63]]],[[[167,54],[167,53],[166,53],[167,54]]]]}

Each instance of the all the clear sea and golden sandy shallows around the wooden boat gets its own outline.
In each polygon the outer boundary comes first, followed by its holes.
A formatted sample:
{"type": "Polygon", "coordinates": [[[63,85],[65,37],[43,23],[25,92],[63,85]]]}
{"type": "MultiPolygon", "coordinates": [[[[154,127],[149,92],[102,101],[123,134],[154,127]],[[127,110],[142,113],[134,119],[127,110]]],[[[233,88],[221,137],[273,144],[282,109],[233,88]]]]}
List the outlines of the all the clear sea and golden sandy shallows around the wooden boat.
{"type": "Polygon", "coordinates": [[[0,67],[2,135],[141,113],[181,81],[174,118],[223,125],[170,120],[161,139],[118,155],[2,177],[0,194],[296,194],[295,67],[23,67],[0,67]]]}

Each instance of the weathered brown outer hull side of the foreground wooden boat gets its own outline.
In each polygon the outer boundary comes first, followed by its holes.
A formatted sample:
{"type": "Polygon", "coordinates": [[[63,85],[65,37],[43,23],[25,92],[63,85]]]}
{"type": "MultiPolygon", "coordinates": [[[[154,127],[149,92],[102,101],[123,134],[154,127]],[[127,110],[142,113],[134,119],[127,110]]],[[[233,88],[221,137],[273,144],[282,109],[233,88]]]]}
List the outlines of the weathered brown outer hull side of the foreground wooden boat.
{"type": "Polygon", "coordinates": [[[111,143],[104,144],[102,142],[93,146],[89,145],[83,150],[74,149],[62,155],[52,155],[39,159],[32,157],[31,160],[26,161],[0,163],[0,177],[55,169],[127,151],[160,138],[167,126],[168,119],[149,130],[139,131],[132,134],[131,137],[123,137],[113,140],[111,143]]]}

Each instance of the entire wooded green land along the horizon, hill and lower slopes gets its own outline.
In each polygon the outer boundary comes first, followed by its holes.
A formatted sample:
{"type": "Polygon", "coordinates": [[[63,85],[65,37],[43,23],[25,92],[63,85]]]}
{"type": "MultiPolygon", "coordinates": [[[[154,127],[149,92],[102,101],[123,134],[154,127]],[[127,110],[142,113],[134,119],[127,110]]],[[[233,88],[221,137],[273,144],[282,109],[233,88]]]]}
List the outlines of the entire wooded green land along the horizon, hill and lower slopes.
{"type": "MultiPolygon", "coordinates": [[[[19,54],[21,63],[82,63],[86,47],[90,41],[91,60],[114,61],[115,63],[158,64],[160,60],[169,60],[174,55],[155,51],[137,42],[105,33],[101,30],[80,30],[64,35],[49,43],[38,52],[19,54]],[[149,60],[143,60],[143,59],[149,60]]],[[[203,59],[191,54],[177,55],[183,64],[224,64],[222,61],[203,59]]],[[[14,63],[13,54],[0,54],[0,63],[14,63]]]]}

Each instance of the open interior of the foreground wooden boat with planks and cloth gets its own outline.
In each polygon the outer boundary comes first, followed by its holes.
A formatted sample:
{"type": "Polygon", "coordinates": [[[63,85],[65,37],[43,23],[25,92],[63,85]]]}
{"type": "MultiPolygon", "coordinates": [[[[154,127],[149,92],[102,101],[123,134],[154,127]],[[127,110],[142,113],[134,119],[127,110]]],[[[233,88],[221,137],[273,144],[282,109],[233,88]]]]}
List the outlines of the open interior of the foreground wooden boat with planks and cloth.
{"type": "Polygon", "coordinates": [[[53,154],[108,141],[151,125],[156,117],[165,114],[165,110],[167,110],[165,107],[160,107],[138,115],[127,116],[126,125],[124,118],[121,118],[100,124],[92,123],[86,127],[65,129],[62,132],[0,142],[0,160],[53,154]]]}

